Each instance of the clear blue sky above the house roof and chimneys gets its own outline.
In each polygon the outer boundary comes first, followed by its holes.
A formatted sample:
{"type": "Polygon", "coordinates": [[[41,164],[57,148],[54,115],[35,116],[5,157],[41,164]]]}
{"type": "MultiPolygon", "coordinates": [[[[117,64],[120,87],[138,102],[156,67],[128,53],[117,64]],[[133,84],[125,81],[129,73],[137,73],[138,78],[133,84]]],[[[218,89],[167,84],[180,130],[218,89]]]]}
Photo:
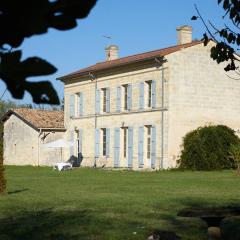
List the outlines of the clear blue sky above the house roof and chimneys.
{"type": "MultiPolygon", "coordinates": [[[[104,48],[109,44],[119,46],[119,57],[169,47],[177,44],[176,27],[180,25],[191,25],[193,39],[201,39],[206,31],[203,24],[191,21],[197,15],[195,3],[205,20],[222,26],[223,10],[217,0],[98,0],[88,17],[78,20],[73,30],[49,29],[47,34],[23,42],[22,59],[38,56],[58,69],[53,75],[28,80],[51,81],[62,99],[64,85],[56,78],[104,61],[104,48]],[[112,40],[103,36],[111,36],[112,40]]],[[[0,82],[0,96],[5,88],[0,82]]],[[[32,103],[28,93],[22,100],[16,100],[7,91],[2,99],[32,103]]]]}

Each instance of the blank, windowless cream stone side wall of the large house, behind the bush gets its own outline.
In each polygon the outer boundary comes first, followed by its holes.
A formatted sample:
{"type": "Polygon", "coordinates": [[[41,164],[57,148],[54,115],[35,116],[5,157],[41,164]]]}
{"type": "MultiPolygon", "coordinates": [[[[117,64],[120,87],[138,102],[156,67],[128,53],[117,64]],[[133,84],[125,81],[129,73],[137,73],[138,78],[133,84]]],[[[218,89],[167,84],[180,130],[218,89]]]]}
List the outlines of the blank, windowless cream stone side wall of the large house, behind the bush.
{"type": "MultiPolygon", "coordinates": [[[[240,82],[224,64],[210,58],[203,44],[168,56],[169,62],[169,166],[176,165],[183,136],[200,126],[224,124],[240,128],[240,82]]],[[[236,77],[236,76],[235,76],[236,77]]]]}

